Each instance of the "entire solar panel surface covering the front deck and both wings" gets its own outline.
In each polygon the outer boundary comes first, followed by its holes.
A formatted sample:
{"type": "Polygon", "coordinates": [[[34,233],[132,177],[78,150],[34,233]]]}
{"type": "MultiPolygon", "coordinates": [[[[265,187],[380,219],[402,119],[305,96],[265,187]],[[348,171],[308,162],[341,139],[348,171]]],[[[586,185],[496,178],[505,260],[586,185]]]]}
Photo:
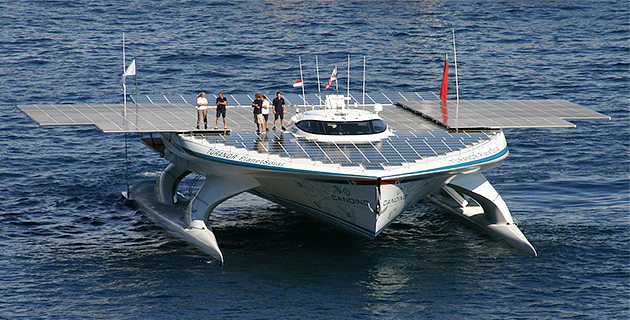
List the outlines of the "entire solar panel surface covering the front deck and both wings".
{"type": "MultiPolygon", "coordinates": [[[[212,143],[278,155],[310,159],[343,167],[384,170],[429,157],[461,150],[491,138],[497,131],[479,129],[523,127],[573,127],[564,119],[610,119],[566,100],[461,100],[442,104],[435,95],[419,93],[351,93],[350,104],[383,105],[379,113],[394,135],[379,142],[334,143],[296,138],[282,131],[255,134],[251,103],[253,95],[226,94],[227,125],[231,134],[207,135],[212,143]],[[436,124],[440,123],[442,126],[436,124]],[[444,130],[468,129],[452,132],[444,130]],[[474,130],[473,130],[474,129],[474,130]]],[[[212,95],[208,95],[212,100],[212,95]]],[[[324,97],[285,94],[286,126],[298,110],[319,108],[324,97]]],[[[123,104],[19,105],[40,125],[95,125],[103,132],[193,132],[197,122],[195,96],[141,96],[123,104]]],[[[214,126],[215,107],[208,120],[214,126]]],[[[270,115],[273,123],[273,114],[270,115]]],[[[220,123],[222,126],[222,123],[220,123]]]]}

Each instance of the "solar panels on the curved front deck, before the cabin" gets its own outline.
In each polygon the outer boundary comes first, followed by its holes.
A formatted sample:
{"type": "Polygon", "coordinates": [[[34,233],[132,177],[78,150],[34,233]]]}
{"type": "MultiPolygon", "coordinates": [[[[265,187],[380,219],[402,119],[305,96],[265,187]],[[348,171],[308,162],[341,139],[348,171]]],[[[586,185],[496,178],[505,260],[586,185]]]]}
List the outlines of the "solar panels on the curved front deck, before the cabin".
{"type": "Polygon", "coordinates": [[[211,143],[223,143],[234,148],[288,159],[310,159],[343,167],[362,166],[365,169],[384,170],[386,167],[402,166],[460,150],[488,140],[495,133],[496,131],[453,133],[433,129],[398,133],[379,142],[361,144],[309,141],[282,131],[269,131],[261,135],[239,132],[222,136],[221,139],[207,139],[211,143]]]}

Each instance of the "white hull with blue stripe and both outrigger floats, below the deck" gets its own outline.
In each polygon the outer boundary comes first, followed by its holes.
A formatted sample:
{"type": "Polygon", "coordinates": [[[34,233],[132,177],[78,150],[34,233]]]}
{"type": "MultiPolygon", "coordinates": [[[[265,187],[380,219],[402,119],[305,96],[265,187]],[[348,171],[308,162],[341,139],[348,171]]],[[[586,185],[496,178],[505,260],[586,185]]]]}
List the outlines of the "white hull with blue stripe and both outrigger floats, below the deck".
{"type": "MultiPolygon", "coordinates": [[[[158,179],[155,200],[147,200],[146,197],[138,200],[133,192],[132,196],[136,201],[148,201],[149,205],[140,206],[147,208],[145,211],[148,210],[161,225],[221,263],[223,255],[212,232],[209,216],[217,205],[239,193],[250,192],[373,239],[409,206],[446,186],[457,188],[461,197],[464,197],[463,194],[473,195],[484,205],[480,212],[485,214],[486,219],[469,219],[471,222],[482,221],[480,226],[486,232],[499,235],[513,246],[536,254],[513,225],[500,196],[480,173],[497,166],[507,157],[502,134],[483,147],[477,146],[476,152],[444,156],[434,162],[411,164],[396,170],[360,173],[330,165],[326,168],[324,164],[313,161],[293,161],[272,158],[261,152],[226,149],[221,143],[208,143],[205,138],[194,136],[170,134],[164,135],[162,140],[166,146],[165,158],[171,164],[158,179]],[[205,180],[186,209],[172,214],[157,212],[159,210],[155,209],[153,202],[177,206],[177,185],[191,172],[203,174],[205,180]],[[478,188],[480,184],[484,187],[478,188]],[[509,229],[510,234],[516,236],[494,232],[503,229],[509,229]],[[516,233],[512,232],[514,230],[516,233]]],[[[452,188],[450,190],[456,193],[452,188]]],[[[466,205],[458,203],[453,208],[458,211],[458,207],[466,205]]],[[[468,212],[470,209],[459,211],[468,212]]],[[[479,210],[476,211],[478,213],[479,210]]]]}

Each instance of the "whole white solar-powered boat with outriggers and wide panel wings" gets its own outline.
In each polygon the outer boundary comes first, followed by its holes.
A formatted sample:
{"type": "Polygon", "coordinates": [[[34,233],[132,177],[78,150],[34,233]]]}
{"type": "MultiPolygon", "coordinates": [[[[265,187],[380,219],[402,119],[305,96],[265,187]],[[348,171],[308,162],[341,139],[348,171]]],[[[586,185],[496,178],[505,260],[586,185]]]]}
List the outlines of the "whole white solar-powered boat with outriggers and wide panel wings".
{"type": "Polygon", "coordinates": [[[154,221],[221,263],[210,215],[242,192],[366,238],[376,237],[407,208],[429,197],[536,256],[483,175],[508,156],[502,129],[574,127],[567,120],[609,119],[566,100],[447,102],[415,92],[286,94],[288,131],[257,134],[253,97],[226,97],[226,130],[195,130],[194,97],[183,95],[144,96],[130,107],[18,108],[42,126],[95,125],[107,133],[151,133],[143,141],[170,164],[157,181],[133,186],[130,198],[154,221]],[[187,199],[177,189],[193,172],[205,179],[187,199]]]}

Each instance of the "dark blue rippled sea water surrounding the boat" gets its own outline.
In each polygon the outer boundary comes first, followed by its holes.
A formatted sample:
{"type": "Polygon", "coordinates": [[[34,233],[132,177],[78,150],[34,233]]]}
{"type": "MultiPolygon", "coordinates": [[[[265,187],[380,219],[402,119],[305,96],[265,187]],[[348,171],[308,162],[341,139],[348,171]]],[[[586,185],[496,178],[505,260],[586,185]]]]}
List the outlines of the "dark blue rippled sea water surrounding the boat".
{"type": "MultiPolygon", "coordinates": [[[[628,319],[629,5],[0,1],[0,318],[628,319]],[[368,92],[437,92],[452,29],[462,98],[612,117],[506,130],[486,176],[537,258],[426,201],[369,241],[244,194],[213,213],[219,267],[125,203],[124,135],[15,108],[122,101],[123,33],[140,94],[292,92],[299,56],[314,84],[348,54],[356,90],[366,57],[368,92]]],[[[167,165],[138,138],[131,183],[167,165]]]]}

